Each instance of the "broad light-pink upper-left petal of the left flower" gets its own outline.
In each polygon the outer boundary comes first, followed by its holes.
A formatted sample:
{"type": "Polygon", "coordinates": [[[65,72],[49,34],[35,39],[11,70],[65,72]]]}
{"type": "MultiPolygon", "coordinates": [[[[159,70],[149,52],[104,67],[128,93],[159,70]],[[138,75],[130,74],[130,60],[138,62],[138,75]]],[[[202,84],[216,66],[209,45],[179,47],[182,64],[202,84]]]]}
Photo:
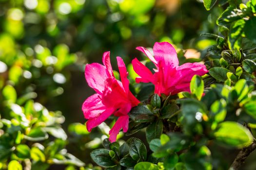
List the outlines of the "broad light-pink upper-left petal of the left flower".
{"type": "Polygon", "coordinates": [[[85,67],[85,79],[90,87],[98,94],[101,94],[105,88],[105,80],[107,79],[105,66],[93,63],[87,64],[85,67]]]}

